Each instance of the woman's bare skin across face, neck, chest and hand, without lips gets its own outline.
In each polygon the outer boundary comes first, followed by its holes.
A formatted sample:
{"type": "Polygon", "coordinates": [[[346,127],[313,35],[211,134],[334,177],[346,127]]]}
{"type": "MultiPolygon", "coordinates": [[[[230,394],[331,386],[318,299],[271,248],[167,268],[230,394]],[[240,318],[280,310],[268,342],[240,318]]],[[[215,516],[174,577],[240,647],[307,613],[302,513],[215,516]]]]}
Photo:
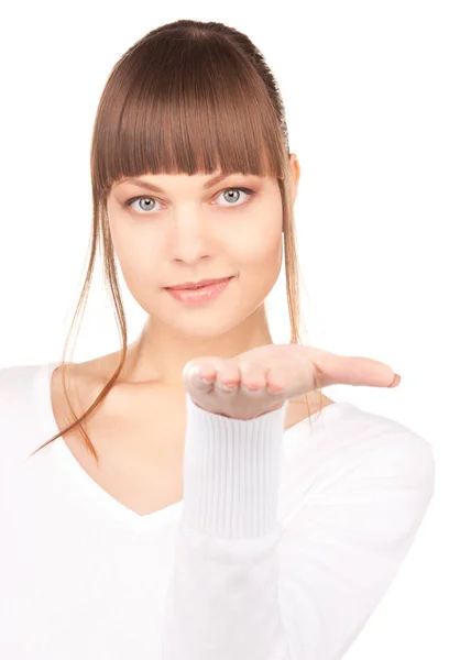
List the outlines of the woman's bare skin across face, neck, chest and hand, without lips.
{"type": "MultiPolygon", "coordinates": [[[[295,198],[300,172],[295,154],[291,154],[291,168],[295,198]]],[[[87,432],[100,464],[76,429],[64,435],[64,442],[102,490],[139,515],[183,496],[186,391],[199,407],[242,419],[288,398],[287,429],[333,404],[318,392],[306,400],[304,393],[310,393],[310,385],[346,383],[353,375],[355,383],[362,380],[364,385],[384,386],[392,380],[390,367],[375,361],[338,358],[336,370],[331,360],[322,360],[324,351],[273,343],[264,302],[283,262],[277,182],[239,173],[218,180],[218,174],[149,173],[135,177],[136,182],[117,182],[108,197],[109,229],[120,268],[147,318],[127,345],[112,389],[88,419],[87,432]],[[254,195],[238,191],[240,187],[254,195]],[[229,275],[236,277],[227,289],[200,307],[188,307],[164,289],[229,275]],[[358,360],[361,375],[352,370],[358,360]],[[213,382],[233,382],[236,392],[222,393],[216,384],[204,386],[189,374],[195,365],[213,382]],[[326,375],[317,371],[320,365],[326,375]],[[261,391],[245,393],[242,378],[261,391]],[[276,386],[282,389],[270,392],[276,386]]],[[[69,365],[68,391],[77,416],[100,394],[120,358],[117,351],[69,365]]],[[[72,410],[61,370],[54,372],[51,389],[55,420],[63,429],[72,421],[72,410]]]]}

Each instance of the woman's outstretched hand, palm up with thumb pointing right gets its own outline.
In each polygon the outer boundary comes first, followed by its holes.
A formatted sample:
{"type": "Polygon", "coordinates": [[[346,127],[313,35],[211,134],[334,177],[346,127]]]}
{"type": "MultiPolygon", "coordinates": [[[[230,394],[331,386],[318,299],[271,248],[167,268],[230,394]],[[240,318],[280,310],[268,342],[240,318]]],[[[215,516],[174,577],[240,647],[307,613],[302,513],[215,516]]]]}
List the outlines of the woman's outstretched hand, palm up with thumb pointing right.
{"type": "Polygon", "coordinates": [[[267,344],[234,358],[195,358],[185,365],[183,382],[191,400],[204,410],[253,419],[318,387],[395,387],[401,377],[371,358],[338,355],[299,344],[267,344]]]}

